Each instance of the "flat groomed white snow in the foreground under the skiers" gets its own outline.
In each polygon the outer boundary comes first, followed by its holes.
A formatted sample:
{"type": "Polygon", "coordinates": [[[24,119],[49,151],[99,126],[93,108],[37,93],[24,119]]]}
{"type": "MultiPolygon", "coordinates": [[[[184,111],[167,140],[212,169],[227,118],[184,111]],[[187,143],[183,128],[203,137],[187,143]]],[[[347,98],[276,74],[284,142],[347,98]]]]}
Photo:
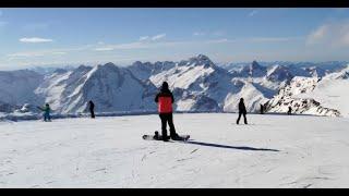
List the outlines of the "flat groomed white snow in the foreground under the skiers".
{"type": "Polygon", "coordinates": [[[0,122],[0,187],[349,187],[349,119],[174,114],[0,122]]]}

